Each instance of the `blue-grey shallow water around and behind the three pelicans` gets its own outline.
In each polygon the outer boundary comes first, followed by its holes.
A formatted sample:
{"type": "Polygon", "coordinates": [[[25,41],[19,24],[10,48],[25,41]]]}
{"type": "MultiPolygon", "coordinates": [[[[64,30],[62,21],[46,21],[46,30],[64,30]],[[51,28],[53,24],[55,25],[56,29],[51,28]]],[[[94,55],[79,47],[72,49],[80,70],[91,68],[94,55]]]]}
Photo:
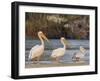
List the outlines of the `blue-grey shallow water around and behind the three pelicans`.
{"type": "MultiPolygon", "coordinates": [[[[73,54],[79,51],[80,46],[83,46],[86,49],[84,60],[86,64],[89,64],[89,40],[68,40],[68,41],[70,42],[71,47],[66,49],[65,55],[61,58],[60,61],[66,64],[73,63],[72,61],[73,54]]],[[[40,44],[40,41],[26,40],[25,44],[26,44],[25,63],[26,64],[32,63],[31,60],[28,60],[29,51],[33,46],[40,44]]],[[[51,58],[50,58],[52,50],[59,47],[63,47],[63,46],[60,43],[60,41],[57,39],[50,40],[50,43],[45,42],[45,51],[44,51],[44,55],[41,58],[40,63],[46,63],[46,64],[52,63],[51,58]]]]}

